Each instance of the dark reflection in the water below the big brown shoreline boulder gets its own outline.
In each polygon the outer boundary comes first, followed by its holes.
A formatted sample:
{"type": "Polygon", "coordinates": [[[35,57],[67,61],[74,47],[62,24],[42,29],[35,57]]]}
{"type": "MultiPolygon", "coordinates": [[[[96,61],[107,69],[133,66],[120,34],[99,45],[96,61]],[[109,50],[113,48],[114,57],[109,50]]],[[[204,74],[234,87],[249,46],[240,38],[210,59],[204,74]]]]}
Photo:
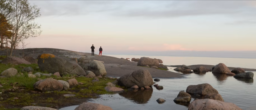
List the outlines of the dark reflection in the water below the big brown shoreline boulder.
{"type": "Polygon", "coordinates": [[[134,103],[138,104],[145,104],[148,103],[149,99],[151,98],[153,93],[153,89],[145,89],[145,90],[128,90],[124,91],[122,93],[119,93],[119,95],[132,100],[134,103]]]}

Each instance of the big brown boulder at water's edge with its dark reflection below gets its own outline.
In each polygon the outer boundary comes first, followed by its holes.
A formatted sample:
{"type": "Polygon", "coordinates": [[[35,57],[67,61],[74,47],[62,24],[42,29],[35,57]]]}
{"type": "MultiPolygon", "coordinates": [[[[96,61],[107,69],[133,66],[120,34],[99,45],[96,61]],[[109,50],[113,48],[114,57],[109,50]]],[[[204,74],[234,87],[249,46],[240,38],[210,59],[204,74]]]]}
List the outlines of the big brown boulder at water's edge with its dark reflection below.
{"type": "Polygon", "coordinates": [[[151,86],[154,84],[154,82],[148,70],[140,69],[121,76],[118,80],[118,84],[125,87],[132,87],[134,85],[144,87],[151,86]]]}

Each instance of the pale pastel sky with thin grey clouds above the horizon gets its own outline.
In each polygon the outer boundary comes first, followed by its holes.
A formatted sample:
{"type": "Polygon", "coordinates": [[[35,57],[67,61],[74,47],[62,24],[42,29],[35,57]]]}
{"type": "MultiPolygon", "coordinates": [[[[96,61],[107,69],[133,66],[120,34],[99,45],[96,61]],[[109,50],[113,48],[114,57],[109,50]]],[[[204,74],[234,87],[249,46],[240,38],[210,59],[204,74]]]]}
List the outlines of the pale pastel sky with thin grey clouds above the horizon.
{"type": "Polygon", "coordinates": [[[25,40],[30,48],[90,52],[94,44],[103,53],[211,57],[256,52],[256,1],[29,2],[41,8],[35,22],[42,30],[25,40]]]}

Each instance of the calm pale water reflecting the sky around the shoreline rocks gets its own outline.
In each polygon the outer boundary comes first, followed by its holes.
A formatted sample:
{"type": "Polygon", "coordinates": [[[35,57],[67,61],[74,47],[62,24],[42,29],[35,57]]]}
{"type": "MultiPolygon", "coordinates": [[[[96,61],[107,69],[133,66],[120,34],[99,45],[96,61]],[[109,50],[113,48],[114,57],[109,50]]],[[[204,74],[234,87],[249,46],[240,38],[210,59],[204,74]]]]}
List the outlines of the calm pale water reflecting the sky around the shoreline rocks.
{"type": "MultiPolygon", "coordinates": [[[[129,55],[109,55],[118,58],[140,58],[142,56],[129,55]]],[[[194,65],[208,64],[216,65],[220,62],[231,67],[255,68],[256,59],[240,58],[208,58],[208,57],[171,57],[168,56],[148,56],[150,58],[162,59],[164,65],[194,65]]],[[[174,67],[168,67],[173,71],[174,67]]],[[[173,71],[175,72],[175,71],[173,71]]],[[[253,72],[256,74],[256,72],[253,72]]],[[[256,75],[255,75],[256,76],[256,75]]],[[[254,76],[254,78],[256,78],[254,76]]],[[[209,83],[219,91],[225,102],[232,102],[243,110],[256,110],[256,85],[253,79],[235,79],[222,74],[184,74],[184,78],[160,79],[158,85],[164,87],[163,90],[157,90],[153,87],[148,91],[127,91],[118,94],[101,95],[98,99],[92,99],[93,103],[110,106],[113,110],[187,110],[188,104],[180,105],[173,102],[179,91],[186,90],[188,85],[209,83]],[[166,100],[163,104],[158,104],[156,100],[163,98],[166,100]]],[[[194,96],[192,96],[194,100],[194,96]]],[[[200,97],[197,97],[200,98],[200,97]]],[[[78,105],[77,105],[78,106],[78,105]]],[[[60,110],[74,110],[77,106],[62,108],[60,110]]]]}

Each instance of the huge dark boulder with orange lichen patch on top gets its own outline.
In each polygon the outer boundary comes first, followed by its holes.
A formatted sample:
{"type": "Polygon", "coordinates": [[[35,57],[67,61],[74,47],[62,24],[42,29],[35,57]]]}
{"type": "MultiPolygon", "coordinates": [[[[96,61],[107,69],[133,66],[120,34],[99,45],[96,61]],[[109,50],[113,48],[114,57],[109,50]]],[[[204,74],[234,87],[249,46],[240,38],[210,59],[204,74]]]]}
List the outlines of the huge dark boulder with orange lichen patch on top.
{"type": "Polygon", "coordinates": [[[47,71],[49,73],[59,72],[61,76],[66,74],[86,75],[83,68],[76,62],[49,53],[44,53],[40,56],[38,66],[41,71],[47,71]]]}

